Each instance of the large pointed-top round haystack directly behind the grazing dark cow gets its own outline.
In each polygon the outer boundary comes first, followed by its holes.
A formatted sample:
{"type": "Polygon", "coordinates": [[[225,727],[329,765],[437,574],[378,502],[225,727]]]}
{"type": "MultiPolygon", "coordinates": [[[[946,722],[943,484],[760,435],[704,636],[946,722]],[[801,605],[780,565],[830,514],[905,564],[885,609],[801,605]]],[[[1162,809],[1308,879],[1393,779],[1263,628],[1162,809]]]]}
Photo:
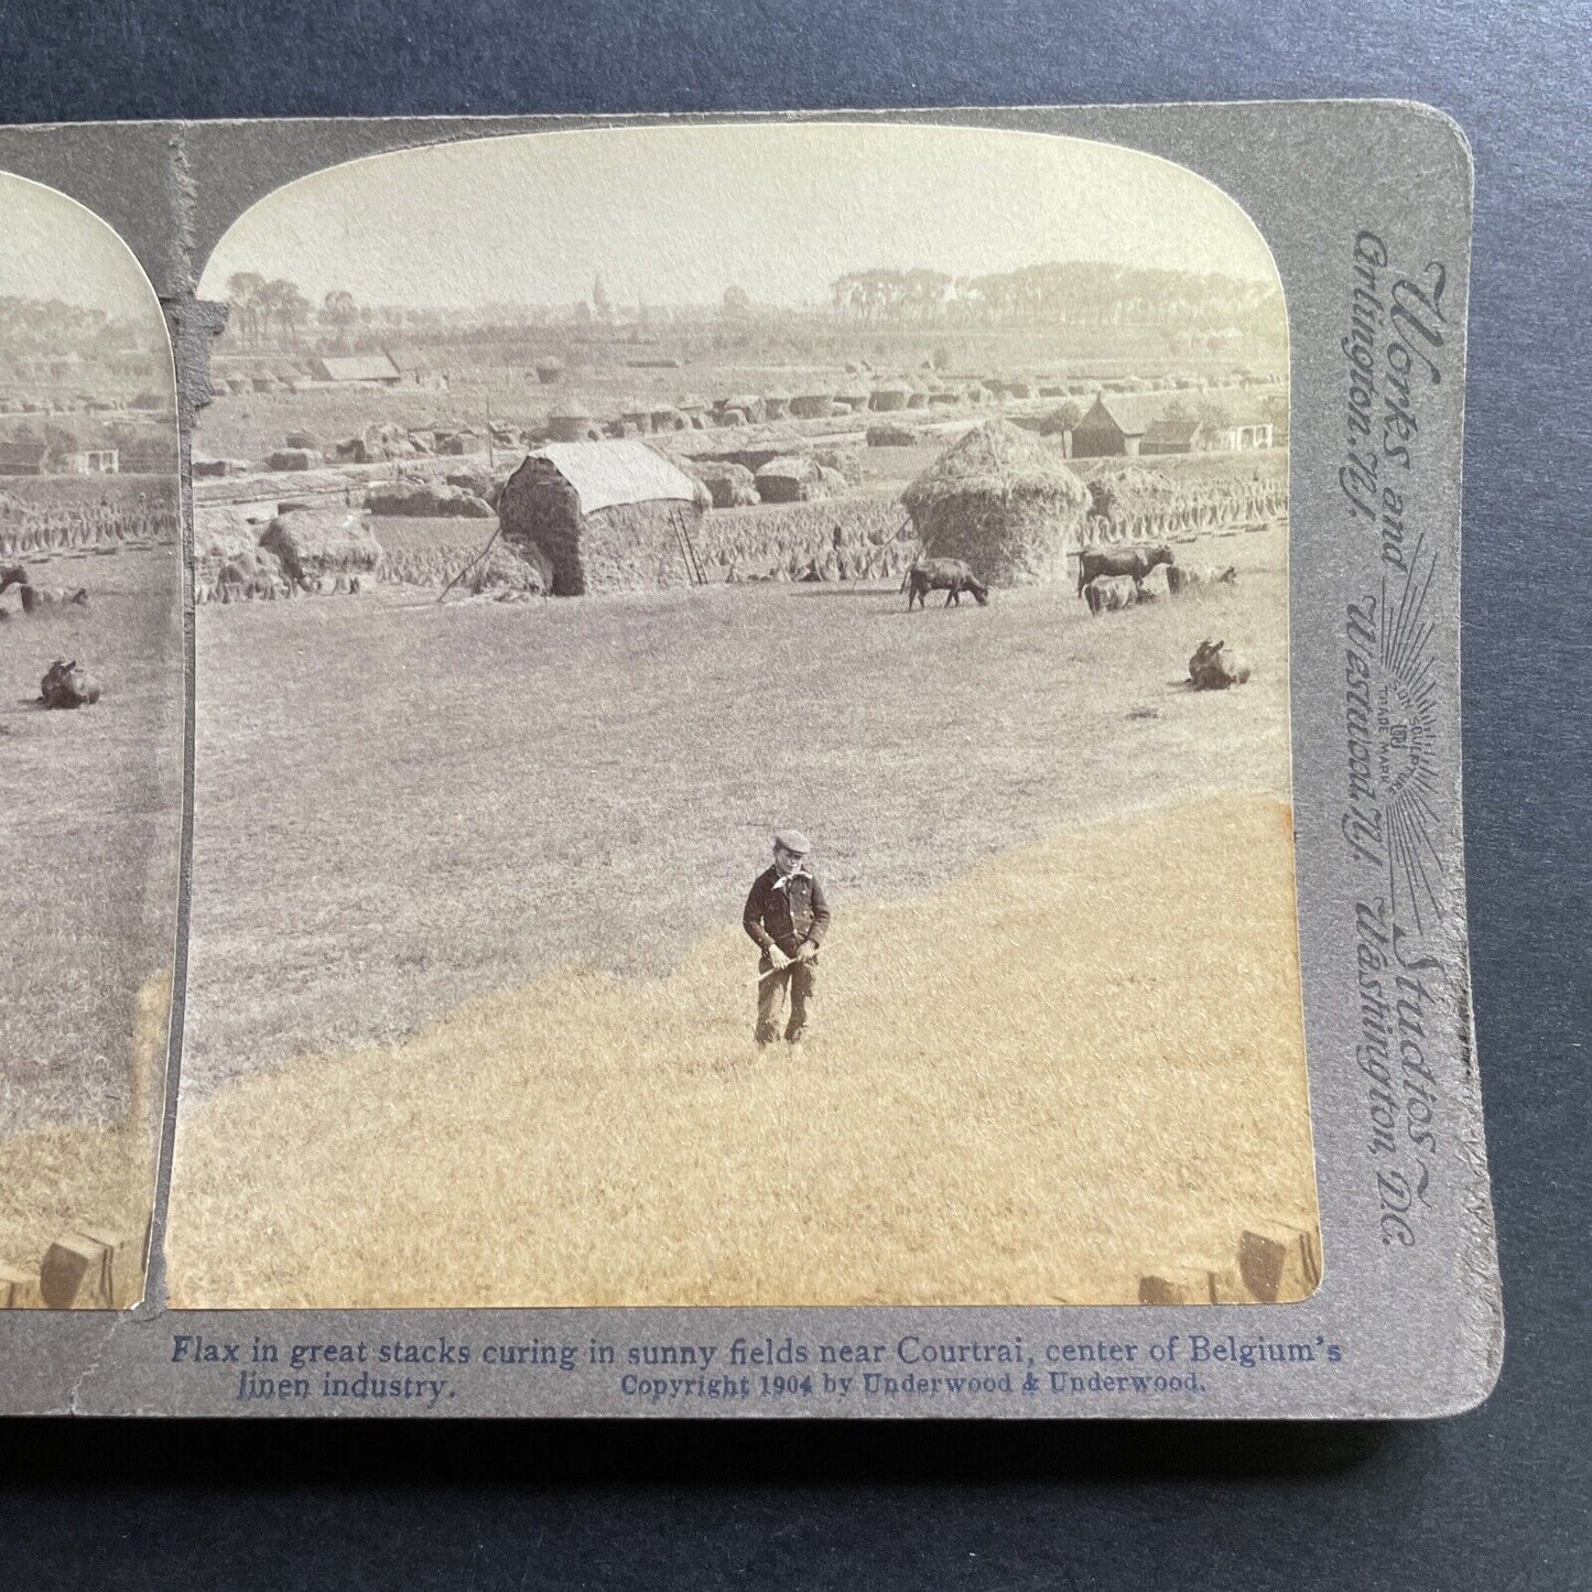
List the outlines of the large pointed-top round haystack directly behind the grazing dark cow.
{"type": "Polygon", "coordinates": [[[1009,420],[968,431],[901,501],[925,552],[966,559],[992,586],[1065,579],[1089,514],[1060,455],[1009,420]]]}

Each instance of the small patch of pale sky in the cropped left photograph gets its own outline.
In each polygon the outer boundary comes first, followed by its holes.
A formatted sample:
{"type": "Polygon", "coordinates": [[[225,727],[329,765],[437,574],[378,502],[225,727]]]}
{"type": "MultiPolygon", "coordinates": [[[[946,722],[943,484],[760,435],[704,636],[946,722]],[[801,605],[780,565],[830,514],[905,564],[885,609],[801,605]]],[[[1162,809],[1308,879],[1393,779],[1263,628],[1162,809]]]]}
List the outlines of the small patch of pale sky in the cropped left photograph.
{"type": "Polygon", "coordinates": [[[0,296],[65,299],[164,333],[150,279],[121,237],[75,199],[0,172],[0,296]]]}

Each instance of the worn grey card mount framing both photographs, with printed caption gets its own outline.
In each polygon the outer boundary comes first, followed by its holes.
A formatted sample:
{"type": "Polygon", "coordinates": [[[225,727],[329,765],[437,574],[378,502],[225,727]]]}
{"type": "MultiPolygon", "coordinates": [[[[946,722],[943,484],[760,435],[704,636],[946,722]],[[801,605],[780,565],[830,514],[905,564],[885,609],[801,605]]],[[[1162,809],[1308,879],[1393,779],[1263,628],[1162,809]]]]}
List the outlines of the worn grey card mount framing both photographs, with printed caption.
{"type": "MultiPolygon", "coordinates": [[[[1469,1009],[1465,861],[1460,809],[1458,575],[1469,275],[1471,159],[1439,111],[1383,100],[1234,105],[831,111],[812,116],[538,116],[218,123],[103,123],[0,129],[0,169],[78,199],[115,226],[143,263],[174,330],[183,425],[185,524],[191,552],[188,444],[207,390],[207,326],[194,301],[204,259],[250,204],[283,181],[365,154],[487,135],[646,126],[678,121],[928,123],[1065,134],[1121,143],[1175,161],[1223,188],[1254,220],[1277,258],[1291,336],[1291,707],[1299,938],[1310,1106],[1325,1275],[1293,1305],[935,1307],[935,1309],[603,1309],[603,1310],[164,1310],[161,1235],[170,1181],[175,1081],[181,1043],[181,973],[172,1028],[170,1091],[154,1219],[150,1302],[123,1317],[0,1312],[0,1412],[172,1415],[742,1415],[742,1417],[1426,1417],[1479,1403],[1501,1366],[1503,1315],[1469,1009]],[[1340,482],[1347,458],[1348,339],[1356,239],[1385,245],[1375,267],[1383,301],[1407,279],[1431,288],[1442,267],[1442,345],[1404,323],[1407,347],[1428,353],[1441,380],[1414,384],[1418,431],[1403,503],[1404,564],[1383,564],[1374,525],[1356,519],[1340,482]],[[1418,544],[1418,557],[1412,549],[1418,544]],[[1387,579],[1387,586],[1383,584],[1387,579]],[[1374,608],[1368,603],[1374,600],[1374,608]],[[1412,603],[1418,599],[1418,619],[1412,603]],[[1350,608],[1363,621],[1350,627],[1350,608]],[[1403,619],[1403,627],[1399,621],[1403,619]],[[1368,640],[1368,637],[1371,637],[1368,640]],[[1380,643],[1380,645],[1379,645],[1380,643]],[[1350,656],[1353,654],[1353,656],[1350,656]],[[1415,678],[1420,670],[1420,678],[1415,678]],[[1430,892],[1406,879],[1356,829],[1348,758],[1348,686],[1382,702],[1420,691],[1431,849],[1430,892]],[[1430,686],[1430,689],[1426,689],[1430,686]],[[1375,858],[1371,861],[1369,858],[1375,858]],[[1417,920],[1418,898],[1418,920],[1417,920]],[[1366,976],[1393,997],[1399,973],[1420,985],[1406,1065],[1391,1076],[1396,1134],[1377,1141],[1377,1079],[1361,1068],[1360,955],[1399,925],[1401,966],[1366,976]],[[1358,925],[1358,927],[1356,927],[1358,925]],[[1425,1083],[1422,1083],[1425,1079],[1425,1083]],[[1430,1111],[1430,1121],[1426,1113],[1430,1111]],[[1430,1134],[1430,1140],[1422,1135],[1430,1134]],[[1411,1239],[1412,1242],[1406,1242],[1411,1239]],[[189,1340],[183,1358],[178,1339],[189,1340]],[[196,1361],[193,1340],[255,1342],[559,1342],[575,1369],[419,1371],[444,1379],[431,1399],[310,1398],[240,1403],[237,1368],[196,1361]],[[769,1344],[769,1361],[734,1368],[756,1377],[799,1369],[810,1395],[724,1398],[685,1390],[626,1391],[627,1350],[713,1344],[713,1375],[729,1374],[729,1345],[769,1344]],[[1205,1356],[1191,1363],[1191,1342],[1205,1356]],[[616,1363],[592,1364],[591,1340],[616,1363]],[[941,1371],[919,1344],[1008,1345],[1006,1361],[977,1368],[1011,1390],[863,1395],[826,1387],[855,1368],[820,1364],[820,1345],[888,1347],[879,1369],[906,1383],[941,1371]],[[790,1340],[810,1358],[778,1358],[790,1340]],[[1020,1348],[1017,1342],[1020,1340],[1020,1348]],[[1068,1358],[1068,1345],[1121,1345],[1114,1361],[1068,1358]],[[1262,1347],[1267,1345],[1267,1347],[1262,1347]],[[1290,1348],[1290,1345],[1293,1345],[1290,1348]],[[1132,1347],[1132,1360],[1126,1358],[1132,1347]],[[1267,1358],[1282,1348],[1283,1358],[1267,1358]],[[1245,1353],[1248,1350],[1248,1353],[1245,1353]],[[1334,1353],[1336,1350],[1336,1353],[1334,1353]],[[917,1356],[917,1358],[914,1358],[917,1356]],[[1247,1360],[1253,1363],[1245,1363],[1247,1360]],[[1057,1377],[1062,1388],[1055,1387],[1057,1377]],[[1122,1372],[1148,1375],[1121,1385],[1122,1372]],[[1192,1374],[1192,1387],[1189,1379],[1192,1374]],[[1073,1379],[1081,1382],[1075,1383],[1073,1379]],[[1156,1387],[1156,1379],[1164,1379],[1156,1387]]],[[[1375,244],[1366,244],[1375,256],[1375,244]]],[[[1390,301],[1391,302],[1391,301],[1390,301]]],[[[1415,302],[1406,299],[1406,302],[1415,302]]],[[[1383,304],[1387,309],[1388,304],[1383,304]]],[[[1430,317],[1428,317],[1430,322],[1430,317]]],[[[1433,326],[1438,323],[1431,322],[1433,326]]],[[[1377,347],[1385,349],[1388,323],[1377,347]]],[[[1418,369],[1418,368],[1417,368],[1418,369]]],[[[1382,366],[1379,366],[1379,377],[1382,366]]],[[[1377,392],[1377,414],[1383,392],[1377,392]]],[[[193,680],[193,615],[188,613],[193,680]]],[[[193,823],[189,689],[181,923],[186,930],[193,823]]],[[[1372,753],[1398,748],[1387,726],[1372,753]]],[[[1391,826],[1387,814],[1379,817],[1391,826]]],[[[1385,839],[1387,831],[1383,831],[1385,839]]],[[[1391,1005],[1391,1001],[1390,1001],[1391,1005]]],[[[1399,1030],[1395,1022],[1393,1054],[1399,1030]]],[[[1374,1063],[1372,1063],[1374,1070],[1374,1063]]],[[[1071,1353],[1076,1353],[1073,1350],[1071,1353]]],[[[963,1368],[966,1369],[966,1368],[963,1368]]],[[[645,1368],[642,1371],[645,1372],[645,1368]]],[[[689,1377],[689,1372],[685,1372],[689,1377]]],[[[720,1393],[724,1390],[721,1388],[720,1393]]]]}

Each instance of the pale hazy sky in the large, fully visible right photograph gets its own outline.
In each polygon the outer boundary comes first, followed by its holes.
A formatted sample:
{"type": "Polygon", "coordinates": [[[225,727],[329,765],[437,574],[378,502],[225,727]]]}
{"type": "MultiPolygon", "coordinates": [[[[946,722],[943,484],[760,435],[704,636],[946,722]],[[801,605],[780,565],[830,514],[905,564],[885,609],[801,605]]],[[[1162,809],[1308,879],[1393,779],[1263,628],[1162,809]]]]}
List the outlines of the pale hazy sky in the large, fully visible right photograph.
{"type": "Polygon", "coordinates": [[[562,304],[602,271],[634,302],[826,301],[869,266],[954,275],[1113,259],[1275,282],[1248,217],[1204,178],[1105,143],[987,129],[621,127],[380,154],[279,188],[217,245],[315,301],[562,304]]]}

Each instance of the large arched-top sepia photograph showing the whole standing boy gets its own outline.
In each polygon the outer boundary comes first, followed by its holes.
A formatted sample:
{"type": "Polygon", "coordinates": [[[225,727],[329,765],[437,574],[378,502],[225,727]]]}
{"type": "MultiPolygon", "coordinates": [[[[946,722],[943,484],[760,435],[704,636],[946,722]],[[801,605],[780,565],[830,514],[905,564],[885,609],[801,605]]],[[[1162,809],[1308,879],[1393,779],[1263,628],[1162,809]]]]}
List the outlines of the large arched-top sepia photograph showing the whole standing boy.
{"type": "Polygon", "coordinates": [[[1231,197],[952,126],[473,139],[267,194],[197,296],[174,1305],[1315,1290],[1231,197]]]}

